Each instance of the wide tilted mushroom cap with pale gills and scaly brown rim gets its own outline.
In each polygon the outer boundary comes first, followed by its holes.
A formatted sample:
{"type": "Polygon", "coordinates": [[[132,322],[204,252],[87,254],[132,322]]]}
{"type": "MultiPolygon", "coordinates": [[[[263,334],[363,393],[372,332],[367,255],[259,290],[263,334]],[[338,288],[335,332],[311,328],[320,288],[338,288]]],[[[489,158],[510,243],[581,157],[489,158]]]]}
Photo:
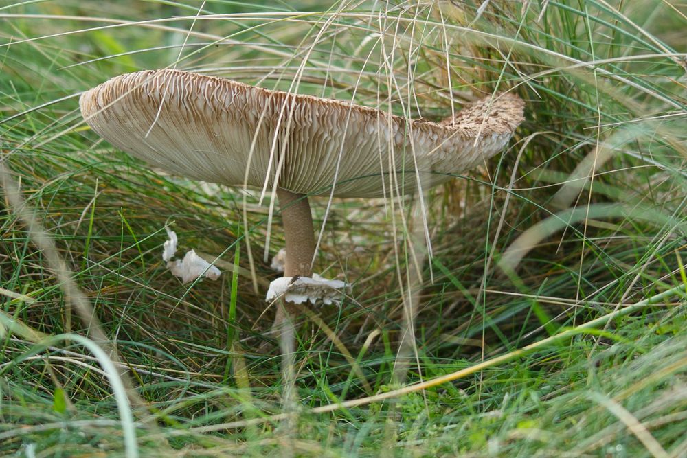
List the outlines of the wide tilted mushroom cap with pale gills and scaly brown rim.
{"type": "Polygon", "coordinates": [[[453,119],[408,120],[179,70],[117,76],[80,98],[86,122],[135,157],[192,179],[339,197],[438,185],[506,146],[523,101],[502,93],[453,119]]]}

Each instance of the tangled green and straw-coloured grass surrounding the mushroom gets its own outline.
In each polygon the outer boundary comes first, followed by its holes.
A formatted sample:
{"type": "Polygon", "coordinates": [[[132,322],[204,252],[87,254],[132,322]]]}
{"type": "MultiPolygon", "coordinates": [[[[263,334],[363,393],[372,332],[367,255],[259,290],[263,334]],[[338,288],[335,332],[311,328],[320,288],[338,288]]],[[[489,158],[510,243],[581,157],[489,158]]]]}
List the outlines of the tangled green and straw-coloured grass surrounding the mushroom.
{"type": "MultiPolygon", "coordinates": [[[[0,453],[122,456],[135,430],[151,457],[687,456],[686,14],[0,0],[0,453]],[[431,257],[419,196],[335,200],[316,270],[352,297],[302,310],[282,358],[262,301],[269,202],[150,170],[78,112],[81,91],[171,66],[434,119],[514,90],[526,122],[424,196],[431,257]],[[166,225],[217,257],[218,282],[166,271],[166,225]]],[[[312,205],[317,225],[327,201],[312,205]]]]}

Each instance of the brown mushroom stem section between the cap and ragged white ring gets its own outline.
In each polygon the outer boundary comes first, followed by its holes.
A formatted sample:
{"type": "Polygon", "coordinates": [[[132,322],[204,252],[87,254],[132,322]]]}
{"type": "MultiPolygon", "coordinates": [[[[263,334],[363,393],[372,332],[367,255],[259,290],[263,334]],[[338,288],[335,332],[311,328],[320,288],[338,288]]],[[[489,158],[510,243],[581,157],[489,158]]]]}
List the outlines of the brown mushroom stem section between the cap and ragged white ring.
{"type": "Polygon", "coordinates": [[[284,277],[310,277],[315,255],[315,231],[308,196],[278,187],[277,197],[286,240],[284,277]]]}

